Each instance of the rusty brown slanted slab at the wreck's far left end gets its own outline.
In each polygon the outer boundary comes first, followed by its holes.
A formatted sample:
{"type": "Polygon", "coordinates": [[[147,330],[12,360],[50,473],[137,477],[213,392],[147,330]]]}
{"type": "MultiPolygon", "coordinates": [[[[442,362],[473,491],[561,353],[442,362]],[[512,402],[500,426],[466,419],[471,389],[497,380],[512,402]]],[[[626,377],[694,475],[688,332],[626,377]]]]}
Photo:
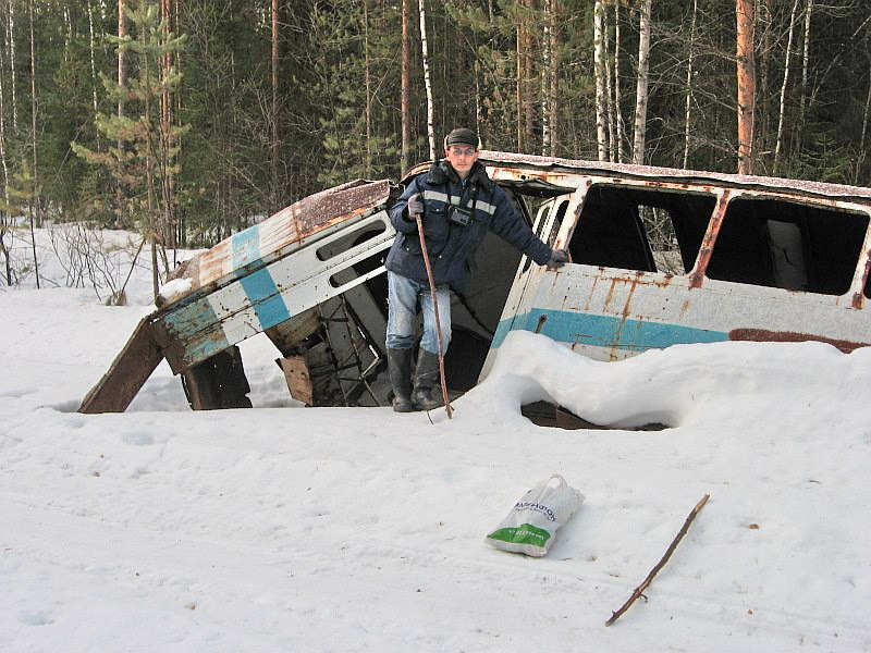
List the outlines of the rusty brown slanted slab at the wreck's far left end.
{"type": "Polygon", "coordinates": [[[143,318],[109,371],[82,401],[79,412],[124,412],[148,377],[163,360],[151,331],[151,316],[143,318]]]}

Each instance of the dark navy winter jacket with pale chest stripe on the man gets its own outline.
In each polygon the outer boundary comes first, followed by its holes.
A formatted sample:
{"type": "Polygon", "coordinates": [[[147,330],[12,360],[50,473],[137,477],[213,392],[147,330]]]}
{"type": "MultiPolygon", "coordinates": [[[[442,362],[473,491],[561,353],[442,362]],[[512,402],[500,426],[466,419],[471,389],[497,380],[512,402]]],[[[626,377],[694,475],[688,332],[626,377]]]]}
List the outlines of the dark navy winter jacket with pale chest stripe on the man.
{"type": "Polygon", "coordinates": [[[475,164],[466,184],[471,187],[463,206],[469,209],[471,219],[465,226],[449,220],[447,207],[459,205],[464,186],[447,161],[433,165],[408,184],[390,210],[390,221],[397,233],[384,261],[388,270],[409,279],[427,280],[417,223],[407,210],[408,198],[416,193],[424,199],[424,236],[436,284],[463,287],[475,269],[475,251],[488,230],[538,264],[548,262],[551,248],[532,233],[505,192],[487,176],[483,165],[475,164]]]}

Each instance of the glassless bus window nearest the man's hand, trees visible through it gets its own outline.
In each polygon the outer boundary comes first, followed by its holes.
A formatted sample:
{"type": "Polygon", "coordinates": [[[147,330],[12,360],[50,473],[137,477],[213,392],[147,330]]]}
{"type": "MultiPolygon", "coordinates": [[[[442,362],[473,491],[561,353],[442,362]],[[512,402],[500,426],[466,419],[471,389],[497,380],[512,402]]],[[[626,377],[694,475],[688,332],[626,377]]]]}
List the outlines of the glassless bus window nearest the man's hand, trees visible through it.
{"type": "Polygon", "coordinates": [[[710,194],[597,184],[568,245],[572,262],[686,274],[715,206],[710,194]]]}

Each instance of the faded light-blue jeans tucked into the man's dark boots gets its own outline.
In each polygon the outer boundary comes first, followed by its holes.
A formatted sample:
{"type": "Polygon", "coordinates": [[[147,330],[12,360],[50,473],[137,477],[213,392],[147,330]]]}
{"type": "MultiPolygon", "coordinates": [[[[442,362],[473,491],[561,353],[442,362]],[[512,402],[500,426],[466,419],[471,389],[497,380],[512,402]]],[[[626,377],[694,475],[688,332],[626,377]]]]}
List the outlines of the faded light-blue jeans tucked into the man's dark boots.
{"type": "MultiPolygon", "coordinates": [[[[442,331],[442,354],[451,342],[451,288],[436,286],[439,301],[439,323],[442,331]]],[[[424,337],[420,346],[430,354],[439,354],[436,332],[436,310],[429,282],[416,281],[388,270],[388,349],[410,349],[417,340],[418,301],[424,310],[424,337]]]]}

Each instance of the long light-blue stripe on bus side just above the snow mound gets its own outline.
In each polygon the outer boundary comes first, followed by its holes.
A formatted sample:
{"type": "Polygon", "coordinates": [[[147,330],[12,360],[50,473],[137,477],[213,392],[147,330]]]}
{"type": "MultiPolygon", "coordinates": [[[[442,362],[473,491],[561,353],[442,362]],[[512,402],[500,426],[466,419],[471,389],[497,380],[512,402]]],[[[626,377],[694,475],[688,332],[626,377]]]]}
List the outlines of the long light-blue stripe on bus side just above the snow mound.
{"type": "Polygon", "coordinates": [[[720,331],[536,308],[516,318],[502,320],[496,328],[491,348],[498,348],[512,330],[538,331],[552,340],[569,345],[616,346],[618,349],[639,353],[647,349],[663,349],[671,345],[720,343],[728,340],[728,334],[720,331]],[[539,328],[540,321],[541,328],[539,328]]]}

